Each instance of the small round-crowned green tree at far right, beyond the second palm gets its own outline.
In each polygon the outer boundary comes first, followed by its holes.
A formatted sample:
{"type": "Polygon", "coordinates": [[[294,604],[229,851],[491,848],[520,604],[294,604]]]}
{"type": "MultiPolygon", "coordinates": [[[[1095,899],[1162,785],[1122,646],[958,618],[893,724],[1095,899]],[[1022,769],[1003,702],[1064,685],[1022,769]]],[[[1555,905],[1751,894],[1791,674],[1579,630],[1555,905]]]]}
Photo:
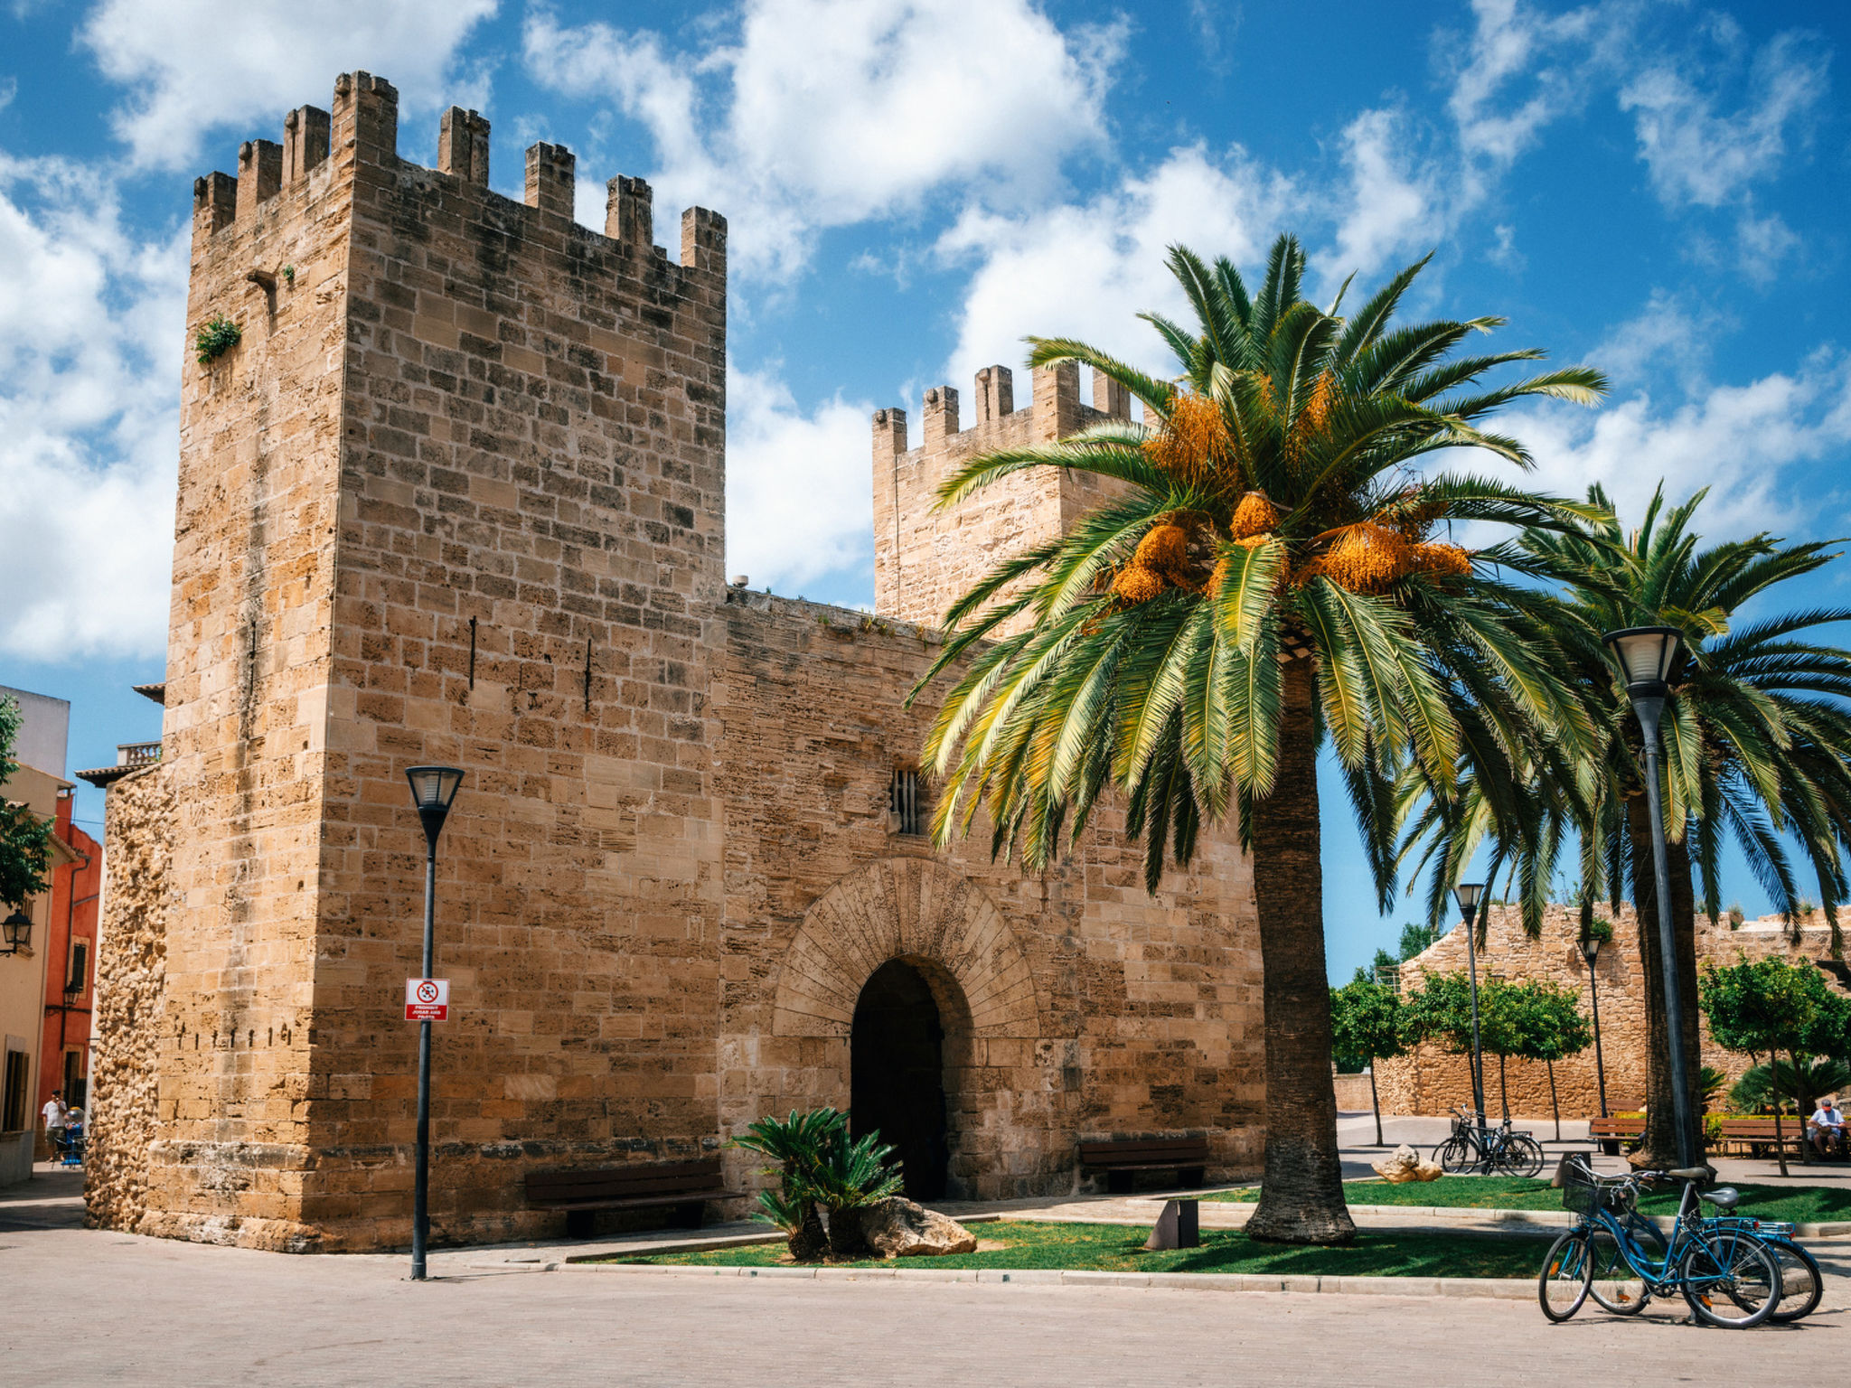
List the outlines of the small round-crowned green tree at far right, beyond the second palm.
{"type": "MultiPolygon", "coordinates": [[[[1744,957],[1729,968],[1710,964],[1697,981],[1697,999],[1710,1020],[1710,1035],[1718,1046],[1731,1051],[1766,1051],[1770,1060],[1779,1060],[1784,1053],[1788,1073],[1794,1077],[1790,1083],[1795,1086],[1808,1072],[1799,1057],[1814,1055],[1816,1046],[1831,1049],[1836,1040],[1831,1033],[1842,1029],[1845,1016],[1810,960],[1788,964],[1784,959],[1744,957]]],[[[1777,1084],[1779,1070],[1770,1066],[1770,1075],[1777,1084]]],[[[1799,1103],[1801,1114],[1812,1105],[1810,1094],[1795,1092],[1788,1097],[1799,1103]]],[[[1786,1175],[1779,1101],[1773,1105],[1773,1147],[1781,1175],[1786,1175]]],[[[1812,1160],[1805,1140],[1799,1144],[1799,1159],[1812,1160]]]]}

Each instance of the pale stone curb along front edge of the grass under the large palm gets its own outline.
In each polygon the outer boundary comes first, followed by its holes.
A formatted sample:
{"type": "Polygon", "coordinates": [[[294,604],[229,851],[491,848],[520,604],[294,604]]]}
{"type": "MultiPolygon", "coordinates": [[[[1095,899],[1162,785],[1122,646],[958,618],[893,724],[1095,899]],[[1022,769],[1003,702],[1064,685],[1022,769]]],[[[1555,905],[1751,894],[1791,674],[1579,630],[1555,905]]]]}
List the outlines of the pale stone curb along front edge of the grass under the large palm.
{"type": "Polygon", "coordinates": [[[546,1271],[655,1277],[772,1277],[811,1283],[979,1283],[985,1286],[1133,1286],[1192,1292],[1314,1292],[1390,1297],[1492,1297],[1527,1301],[1533,1277],[1270,1277],[1262,1273],[1068,1271],[1061,1268],[690,1268],[648,1262],[548,1264],[546,1271]]]}

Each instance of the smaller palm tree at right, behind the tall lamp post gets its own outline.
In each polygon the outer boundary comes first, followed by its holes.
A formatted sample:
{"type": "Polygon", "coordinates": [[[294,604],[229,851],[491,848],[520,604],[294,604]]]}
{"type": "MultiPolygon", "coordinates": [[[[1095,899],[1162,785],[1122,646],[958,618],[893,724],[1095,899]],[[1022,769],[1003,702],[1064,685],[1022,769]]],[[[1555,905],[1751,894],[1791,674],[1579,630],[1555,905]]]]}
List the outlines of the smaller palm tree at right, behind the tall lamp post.
{"type": "MultiPolygon", "coordinates": [[[[1734,840],[1775,909],[1803,914],[1797,877],[1783,835],[1792,835],[1818,881],[1836,944],[1836,907],[1847,898],[1840,853],[1851,848],[1851,651],[1812,638],[1847,609],[1805,609],[1736,626],[1738,613],[1777,585],[1816,572],[1834,557],[1832,542],[1786,544],[1760,533],[1701,548],[1692,518],[1705,492],[1666,509],[1660,487],[1631,533],[1612,518],[1607,494],[1588,490],[1590,514],[1570,529],[1534,529],[1520,550],[1529,572],[1566,585],[1540,620],[1553,622],[1564,675],[1583,690],[1599,729],[1592,757],[1510,757],[1473,750],[1457,787],[1433,796],[1412,818],[1409,849],[1438,853],[1435,899],[1455,881],[1485,838],[1496,840],[1492,877],[1514,864],[1525,885],[1546,888],[1564,840],[1581,840],[1581,907],[1592,918],[1605,888],[1614,905],[1633,886],[1646,973],[1649,1033],[1647,1131],[1636,1155],[1675,1162],[1677,1131],[1670,1090],[1670,1035],[1664,1029],[1658,903],[1651,866],[1651,824],[1640,774],[1640,731],[1625,687],[1601,637],[1629,626],[1673,626],[1688,657],[1664,720],[1666,838],[1684,1047],[1697,1055],[1694,879],[1714,922],[1721,899],[1721,851],[1734,840]]],[[[1403,787],[1412,801],[1425,787],[1418,768],[1403,787]]],[[[1438,788],[1438,787],[1436,787],[1438,788]]],[[[1444,790],[1444,788],[1438,788],[1444,790]]],[[[1525,890],[1525,920],[1538,901],[1525,890]]],[[[1696,1081],[1697,1068],[1690,1066],[1696,1081]]],[[[1696,1084],[1692,1084],[1696,1090],[1696,1084]]],[[[1692,1094],[1692,1114],[1703,1107],[1692,1094]]],[[[1692,1133],[1692,1151],[1701,1134],[1692,1133]]]]}

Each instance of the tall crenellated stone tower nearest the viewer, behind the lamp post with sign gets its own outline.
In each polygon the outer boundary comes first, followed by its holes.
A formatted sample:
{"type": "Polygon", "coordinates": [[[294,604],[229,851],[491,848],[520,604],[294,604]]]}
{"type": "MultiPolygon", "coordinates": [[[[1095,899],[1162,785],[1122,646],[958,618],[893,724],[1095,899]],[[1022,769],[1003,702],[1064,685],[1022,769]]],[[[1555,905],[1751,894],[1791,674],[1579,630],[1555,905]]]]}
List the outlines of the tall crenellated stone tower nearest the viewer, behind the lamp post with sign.
{"type": "Polygon", "coordinates": [[[355,72],[194,187],[189,342],[241,341],[181,403],[167,1001],[118,1120],[146,1233],[407,1238],[415,762],[470,768],[439,1225],[494,1234],[498,1157],[716,1142],[726,222],[685,213],[676,265],[646,183],[611,181],[598,235],[565,148],[528,150],[518,204],[481,117],[433,133],[435,168],[400,159],[394,89],[355,72]]]}

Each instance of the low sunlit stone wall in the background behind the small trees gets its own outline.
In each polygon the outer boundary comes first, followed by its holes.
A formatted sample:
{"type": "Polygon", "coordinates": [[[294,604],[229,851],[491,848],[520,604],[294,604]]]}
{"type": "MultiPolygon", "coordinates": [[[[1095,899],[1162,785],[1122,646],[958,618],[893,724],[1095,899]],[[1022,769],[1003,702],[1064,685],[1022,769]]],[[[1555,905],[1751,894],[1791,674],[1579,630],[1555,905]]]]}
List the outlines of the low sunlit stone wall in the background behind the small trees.
{"type": "MultiPolygon", "coordinates": [[[[1820,918],[1814,918],[1820,922],[1820,918]]],[[[1601,1055],[1607,1068],[1607,1109],[1623,1112],[1646,1103],[1646,992],[1638,953],[1638,925],[1631,907],[1614,918],[1614,938],[1599,951],[1597,985],[1601,1012],[1601,1055]]],[[[1820,922],[1805,925],[1797,938],[1781,920],[1751,920],[1731,929],[1723,920],[1710,925],[1697,920],[1697,968],[1707,962],[1733,964],[1749,959],[1825,959],[1831,955],[1831,929],[1820,922]]],[[[1538,936],[1523,933],[1516,907],[1492,907],[1485,948],[1479,949],[1479,983],[1501,977],[1509,983],[1547,979],[1581,994],[1581,1010],[1592,1016],[1588,966],[1581,957],[1579,916],[1570,907],[1549,907],[1538,936]]],[[[1427,973],[1464,973],[1466,938],[1451,931],[1401,966],[1401,990],[1412,992],[1427,973]]],[[[1696,999],[1688,999],[1696,1007],[1696,999]]],[[[1703,1064],[1716,1066],[1729,1081],[1740,1079],[1749,1059],[1725,1051],[1703,1031],[1703,1064]]],[[[1581,1055],[1557,1060],[1555,1097],[1564,1118],[1599,1114],[1596,1055],[1588,1046],[1581,1055]]],[[[1375,1066],[1375,1084],[1385,1114],[1444,1114],[1455,1105],[1472,1105],[1472,1066],[1464,1055],[1423,1042],[1416,1051],[1375,1066]]],[[[1507,1060],[1499,1084],[1497,1057],[1485,1057],[1485,1105],[1496,1118],[1509,1094],[1510,1112],[1522,1118],[1549,1118],[1549,1066],[1536,1060],[1507,1060]]]]}

